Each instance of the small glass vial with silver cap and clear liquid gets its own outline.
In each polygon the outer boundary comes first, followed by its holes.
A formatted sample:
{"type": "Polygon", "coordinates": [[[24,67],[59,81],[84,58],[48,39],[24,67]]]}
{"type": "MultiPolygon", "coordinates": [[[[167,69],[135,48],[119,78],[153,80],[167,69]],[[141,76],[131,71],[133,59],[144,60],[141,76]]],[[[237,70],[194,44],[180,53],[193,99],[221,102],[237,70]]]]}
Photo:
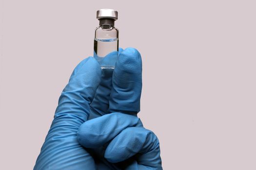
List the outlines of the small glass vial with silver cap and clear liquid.
{"type": "Polygon", "coordinates": [[[95,29],[94,57],[101,69],[114,69],[118,59],[118,29],[115,20],[118,12],[113,9],[97,11],[99,26],[95,29]]]}

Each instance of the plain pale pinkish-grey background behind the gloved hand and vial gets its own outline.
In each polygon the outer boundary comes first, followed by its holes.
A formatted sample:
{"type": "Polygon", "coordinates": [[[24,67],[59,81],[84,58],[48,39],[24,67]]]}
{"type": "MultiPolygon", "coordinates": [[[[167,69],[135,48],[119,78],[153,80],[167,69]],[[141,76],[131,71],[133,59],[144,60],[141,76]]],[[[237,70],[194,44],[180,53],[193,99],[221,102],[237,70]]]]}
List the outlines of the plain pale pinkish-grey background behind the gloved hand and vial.
{"type": "Polygon", "coordinates": [[[100,8],[142,55],[139,117],[164,170],[255,170],[255,0],[1,1],[0,169],[33,168],[100,8]]]}

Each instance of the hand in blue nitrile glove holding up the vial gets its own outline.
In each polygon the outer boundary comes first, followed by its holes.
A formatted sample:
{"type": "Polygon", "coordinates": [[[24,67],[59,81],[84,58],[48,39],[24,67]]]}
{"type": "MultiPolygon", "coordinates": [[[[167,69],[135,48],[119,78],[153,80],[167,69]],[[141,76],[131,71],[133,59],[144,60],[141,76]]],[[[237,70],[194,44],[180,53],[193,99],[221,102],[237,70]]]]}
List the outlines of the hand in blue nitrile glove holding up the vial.
{"type": "Polygon", "coordinates": [[[119,51],[113,73],[93,57],[75,68],[34,170],[162,170],[158,138],[137,117],[140,54],[119,51]]]}

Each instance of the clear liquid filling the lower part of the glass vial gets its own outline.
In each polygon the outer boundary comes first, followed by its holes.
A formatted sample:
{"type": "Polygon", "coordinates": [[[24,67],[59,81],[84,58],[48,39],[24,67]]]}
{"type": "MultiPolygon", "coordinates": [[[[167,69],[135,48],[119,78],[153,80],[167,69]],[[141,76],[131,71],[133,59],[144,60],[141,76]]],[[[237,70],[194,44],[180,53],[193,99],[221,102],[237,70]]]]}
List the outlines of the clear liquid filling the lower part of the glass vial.
{"type": "Polygon", "coordinates": [[[94,57],[101,69],[114,69],[118,60],[118,38],[94,38],[94,57]]]}

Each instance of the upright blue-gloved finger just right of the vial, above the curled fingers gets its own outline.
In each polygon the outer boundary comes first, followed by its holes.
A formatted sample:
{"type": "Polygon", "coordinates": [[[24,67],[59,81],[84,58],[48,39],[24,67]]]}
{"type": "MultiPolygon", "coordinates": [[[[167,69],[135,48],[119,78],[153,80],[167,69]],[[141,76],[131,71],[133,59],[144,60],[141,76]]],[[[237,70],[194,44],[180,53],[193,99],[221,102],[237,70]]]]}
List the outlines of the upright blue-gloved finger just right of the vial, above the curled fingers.
{"type": "Polygon", "coordinates": [[[112,85],[108,112],[136,115],[142,88],[142,61],[136,49],[126,48],[119,54],[112,85]]]}

